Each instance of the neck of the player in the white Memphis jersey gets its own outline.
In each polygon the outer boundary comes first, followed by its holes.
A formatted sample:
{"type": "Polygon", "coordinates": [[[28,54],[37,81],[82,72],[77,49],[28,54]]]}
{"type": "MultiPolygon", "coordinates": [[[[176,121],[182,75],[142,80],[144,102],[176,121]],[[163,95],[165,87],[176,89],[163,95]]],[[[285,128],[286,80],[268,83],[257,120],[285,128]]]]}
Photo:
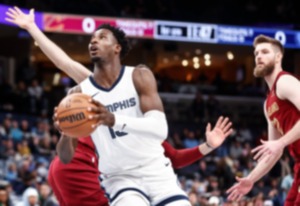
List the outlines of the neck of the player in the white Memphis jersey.
{"type": "Polygon", "coordinates": [[[118,63],[108,63],[95,65],[94,80],[104,88],[110,88],[118,79],[122,65],[118,63]]]}

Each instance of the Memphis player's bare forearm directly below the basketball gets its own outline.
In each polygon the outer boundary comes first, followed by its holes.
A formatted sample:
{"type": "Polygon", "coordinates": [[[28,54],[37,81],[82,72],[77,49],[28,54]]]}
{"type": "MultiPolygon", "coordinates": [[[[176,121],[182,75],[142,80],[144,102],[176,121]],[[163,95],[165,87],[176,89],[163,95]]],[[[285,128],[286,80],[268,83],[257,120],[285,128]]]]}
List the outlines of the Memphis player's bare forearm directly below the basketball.
{"type": "Polygon", "coordinates": [[[62,135],[56,145],[57,155],[60,161],[64,164],[71,162],[74,153],[75,153],[75,144],[74,141],[77,141],[74,138],[67,137],[62,135]]]}

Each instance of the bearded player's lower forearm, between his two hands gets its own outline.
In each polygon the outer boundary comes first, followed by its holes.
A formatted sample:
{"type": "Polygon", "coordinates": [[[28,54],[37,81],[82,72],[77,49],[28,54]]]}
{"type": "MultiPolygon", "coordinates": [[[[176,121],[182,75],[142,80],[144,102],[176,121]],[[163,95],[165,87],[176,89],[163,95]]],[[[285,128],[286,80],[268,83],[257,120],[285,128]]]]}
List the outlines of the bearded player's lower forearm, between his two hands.
{"type": "Polygon", "coordinates": [[[253,181],[253,183],[257,182],[264,175],[266,175],[275,165],[275,163],[280,159],[282,153],[277,154],[276,156],[272,156],[267,162],[265,156],[262,160],[260,160],[257,166],[252,170],[252,172],[248,175],[247,178],[253,181]]]}

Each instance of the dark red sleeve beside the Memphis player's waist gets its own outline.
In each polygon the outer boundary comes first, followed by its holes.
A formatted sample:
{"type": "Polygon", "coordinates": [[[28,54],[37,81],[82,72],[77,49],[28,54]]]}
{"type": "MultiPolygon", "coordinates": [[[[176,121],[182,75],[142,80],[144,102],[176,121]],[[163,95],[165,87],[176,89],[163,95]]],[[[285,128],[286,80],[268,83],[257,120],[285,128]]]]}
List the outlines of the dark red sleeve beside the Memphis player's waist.
{"type": "Polygon", "coordinates": [[[170,158],[175,169],[188,166],[203,157],[198,147],[178,150],[167,141],[164,141],[162,146],[165,149],[165,155],[170,158]]]}

